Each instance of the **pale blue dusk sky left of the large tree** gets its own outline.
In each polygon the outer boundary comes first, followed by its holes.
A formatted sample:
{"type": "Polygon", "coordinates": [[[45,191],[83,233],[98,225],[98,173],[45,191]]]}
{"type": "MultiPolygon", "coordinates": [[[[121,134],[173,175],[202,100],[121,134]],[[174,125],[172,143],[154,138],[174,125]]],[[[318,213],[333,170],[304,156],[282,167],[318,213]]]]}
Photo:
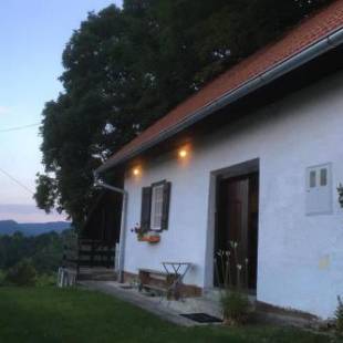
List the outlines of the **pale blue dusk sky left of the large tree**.
{"type": "Polygon", "coordinates": [[[62,91],[61,55],[73,30],[114,2],[122,0],[0,1],[0,220],[64,219],[38,210],[29,191],[42,172],[38,126],[8,129],[40,123],[44,103],[62,91]]]}

